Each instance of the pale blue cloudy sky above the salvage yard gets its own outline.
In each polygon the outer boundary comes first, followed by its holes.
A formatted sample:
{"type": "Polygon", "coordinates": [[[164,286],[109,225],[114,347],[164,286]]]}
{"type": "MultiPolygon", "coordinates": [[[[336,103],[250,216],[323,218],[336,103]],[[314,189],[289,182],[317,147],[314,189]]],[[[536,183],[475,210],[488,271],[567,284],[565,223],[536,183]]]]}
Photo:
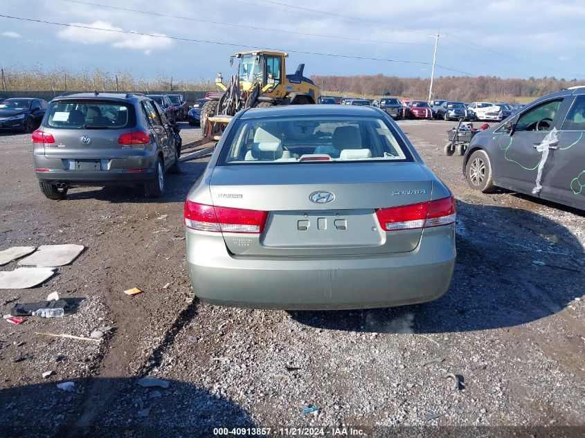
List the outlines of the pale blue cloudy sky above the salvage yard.
{"type": "Polygon", "coordinates": [[[274,48],[289,53],[288,73],[304,62],[305,75],[430,77],[440,33],[435,77],[585,79],[577,0],[3,0],[0,15],[151,35],[0,17],[6,68],[213,79],[233,73],[233,53],[274,48]]]}

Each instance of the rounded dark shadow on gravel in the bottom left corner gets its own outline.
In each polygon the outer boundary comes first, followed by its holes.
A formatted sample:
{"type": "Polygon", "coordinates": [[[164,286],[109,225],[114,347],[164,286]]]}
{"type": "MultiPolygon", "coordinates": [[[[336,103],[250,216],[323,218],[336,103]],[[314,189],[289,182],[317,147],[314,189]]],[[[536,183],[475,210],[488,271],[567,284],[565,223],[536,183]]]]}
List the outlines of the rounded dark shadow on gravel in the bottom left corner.
{"type": "MultiPolygon", "coordinates": [[[[0,390],[3,437],[211,437],[213,428],[251,428],[245,410],[232,401],[183,381],[168,388],[141,387],[136,378],[82,378],[0,390]],[[73,382],[71,392],[57,384],[73,382]],[[92,385],[115,388],[108,403],[85,402],[92,385]]],[[[107,396],[105,397],[107,399],[107,396]]]]}

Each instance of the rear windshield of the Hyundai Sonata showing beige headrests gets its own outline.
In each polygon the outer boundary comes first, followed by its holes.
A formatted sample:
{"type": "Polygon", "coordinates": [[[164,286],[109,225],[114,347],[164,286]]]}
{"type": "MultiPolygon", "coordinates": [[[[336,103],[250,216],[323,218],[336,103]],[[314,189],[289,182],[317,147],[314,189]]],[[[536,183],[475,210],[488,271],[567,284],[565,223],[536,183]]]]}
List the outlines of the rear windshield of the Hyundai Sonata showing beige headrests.
{"type": "Polygon", "coordinates": [[[218,165],[412,161],[383,118],[347,116],[237,120],[218,165]]]}

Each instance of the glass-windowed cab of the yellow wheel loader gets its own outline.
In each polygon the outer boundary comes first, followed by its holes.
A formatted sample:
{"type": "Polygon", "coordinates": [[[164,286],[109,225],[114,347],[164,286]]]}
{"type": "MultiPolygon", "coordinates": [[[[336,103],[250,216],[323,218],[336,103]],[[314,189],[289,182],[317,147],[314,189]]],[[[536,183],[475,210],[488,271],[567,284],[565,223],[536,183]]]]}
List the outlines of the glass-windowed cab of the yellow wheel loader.
{"type": "Polygon", "coordinates": [[[240,60],[237,75],[241,82],[260,82],[261,86],[282,84],[286,53],[245,52],[235,55],[240,60]]]}

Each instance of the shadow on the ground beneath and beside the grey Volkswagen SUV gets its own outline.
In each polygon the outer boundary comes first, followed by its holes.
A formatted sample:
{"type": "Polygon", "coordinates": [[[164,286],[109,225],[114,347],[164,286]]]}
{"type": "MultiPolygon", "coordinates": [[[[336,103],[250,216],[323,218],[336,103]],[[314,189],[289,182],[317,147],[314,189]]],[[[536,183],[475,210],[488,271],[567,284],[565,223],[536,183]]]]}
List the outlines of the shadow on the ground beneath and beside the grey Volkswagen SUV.
{"type": "Polygon", "coordinates": [[[76,201],[79,199],[98,199],[110,203],[166,203],[185,201],[189,189],[203,174],[207,162],[183,161],[181,172],[165,174],[165,194],[161,198],[149,198],[144,194],[144,188],[123,187],[109,185],[99,188],[73,188],[67,193],[66,199],[60,202],[76,201]]]}

